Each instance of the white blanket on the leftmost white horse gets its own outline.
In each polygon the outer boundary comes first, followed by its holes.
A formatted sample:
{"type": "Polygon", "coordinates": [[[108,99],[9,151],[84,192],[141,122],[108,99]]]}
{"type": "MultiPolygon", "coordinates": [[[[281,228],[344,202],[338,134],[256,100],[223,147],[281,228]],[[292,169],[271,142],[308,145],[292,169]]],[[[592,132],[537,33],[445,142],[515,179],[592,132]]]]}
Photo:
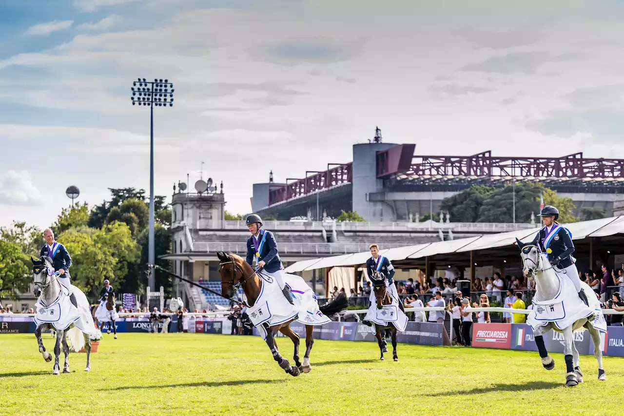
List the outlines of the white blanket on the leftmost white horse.
{"type": "Polygon", "coordinates": [[[76,296],[78,307],[76,308],[72,305],[71,300],[69,300],[69,294],[66,294],[67,289],[61,285],[59,297],[52,304],[44,305],[41,302],[41,297],[39,297],[36,305],[37,314],[34,317],[35,324],[37,326],[44,323],[52,324],[57,330],[65,330],[69,325],[74,324],[85,334],[95,337],[95,324],[93,323],[87,297],[76,286],[70,285],[69,288],[76,296]]]}

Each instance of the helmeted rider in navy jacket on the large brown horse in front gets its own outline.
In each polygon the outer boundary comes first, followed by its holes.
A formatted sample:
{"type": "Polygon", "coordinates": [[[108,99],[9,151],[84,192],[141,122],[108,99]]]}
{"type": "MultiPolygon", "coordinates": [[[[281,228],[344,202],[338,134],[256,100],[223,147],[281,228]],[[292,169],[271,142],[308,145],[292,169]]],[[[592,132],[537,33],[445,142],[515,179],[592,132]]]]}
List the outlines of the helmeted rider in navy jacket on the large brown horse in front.
{"type": "Polygon", "coordinates": [[[270,275],[279,285],[281,292],[288,302],[293,305],[293,294],[290,286],[284,282],[284,268],[281,264],[280,254],[277,250],[277,242],[273,233],[262,229],[260,215],[251,214],[245,220],[251,237],[247,239],[246,262],[253,266],[253,258],[256,258],[256,268],[262,268],[263,273],[270,275]]]}

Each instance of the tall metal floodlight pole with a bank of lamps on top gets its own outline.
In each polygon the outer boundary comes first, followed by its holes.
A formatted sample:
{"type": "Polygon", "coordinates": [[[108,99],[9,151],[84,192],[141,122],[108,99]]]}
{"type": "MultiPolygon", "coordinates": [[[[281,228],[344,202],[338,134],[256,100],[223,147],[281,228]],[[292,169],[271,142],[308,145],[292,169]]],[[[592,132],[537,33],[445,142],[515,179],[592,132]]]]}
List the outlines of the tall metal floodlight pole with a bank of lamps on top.
{"type": "MultiPolygon", "coordinates": [[[[132,82],[132,105],[150,106],[150,225],[148,237],[148,274],[147,285],[150,290],[156,290],[154,279],[155,249],[154,249],[154,106],[173,107],[173,84],[165,79],[146,81],[139,78],[132,82]],[[139,84],[137,86],[137,84],[139,84]]],[[[149,300],[148,300],[149,302],[149,300]]]]}

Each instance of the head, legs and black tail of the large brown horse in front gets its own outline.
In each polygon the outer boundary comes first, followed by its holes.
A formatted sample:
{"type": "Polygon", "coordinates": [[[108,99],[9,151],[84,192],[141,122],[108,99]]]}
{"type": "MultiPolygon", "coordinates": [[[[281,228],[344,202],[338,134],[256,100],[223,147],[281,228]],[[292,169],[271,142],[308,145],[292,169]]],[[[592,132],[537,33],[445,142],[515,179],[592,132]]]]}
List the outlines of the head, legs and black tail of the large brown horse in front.
{"type": "MultiPolygon", "coordinates": [[[[261,290],[260,277],[256,274],[256,270],[254,270],[244,259],[241,259],[241,257],[238,257],[236,254],[217,252],[217,257],[220,260],[219,274],[221,275],[221,294],[228,298],[232,297],[235,293],[235,287],[240,285],[243,288],[243,292],[245,292],[248,305],[253,306],[260,296],[261,290]]],[[[347,306],[348,302],[346,295],[343,295],[342,297],[336,298],[333,301],[319,307],[319,310],[324,315],[331,316],[337,314],[343,309],[346,309],[347,306]]],[[[312,349],[312,345],[314,344],[314,340],[312,339],[312,330],[314,329],[314,326],[306,325],[306,354],[303,356],[302,365],[299,361],[299,335],[290,328],[290,323],[296,319],[297,317],[289,320],[288,322],[284,322],[283,324],[273,326],[264,324],[266,330],[266,345],[270,348],[271,353],[273,354],[273,359],[283,370],[285,370],[286,373],[292,375],[293,377],[298,376],[301,372],[308,373],[312,369],[310,365],[310,351],[312,349]],[[295,354],[293,355],[295,365],[293,366],[290,365],[288,359],[281,356],[277,349],[275,335],[278,332],[281,332],[286,337],[290,338],[295,345],[295,354]]]]}

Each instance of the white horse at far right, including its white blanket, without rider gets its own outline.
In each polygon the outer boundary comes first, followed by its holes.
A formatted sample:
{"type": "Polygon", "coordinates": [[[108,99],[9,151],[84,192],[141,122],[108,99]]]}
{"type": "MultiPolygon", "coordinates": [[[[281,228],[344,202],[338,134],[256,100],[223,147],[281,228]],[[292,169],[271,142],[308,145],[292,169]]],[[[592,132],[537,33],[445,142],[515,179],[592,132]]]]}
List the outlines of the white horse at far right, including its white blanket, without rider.
{"type": "Polygon", "coordinates": [[[606,321],[600,310],[600,302],[592,288],[581,282],[590,306],[587,307],[573,289],[572,282],[565,276],[558,277],[555,269],[548,262],[548,257],[540,253],[534,244],[524,244],[516,239],[520,247],[524,275],[535,279],[534,310],[527,316],[527,323],[533,328],[535,344],[542,358],[542,365],[547,370],[555,368],[555,360],[550,357],[544,344],[544,334],[555,330],[563,334],[563,354],[567,367],[566,383],[568,387],[583,382],[578,359],[578,350],[574,345],[573,332],[587,329],[593,341],[593,354],[598,360],[598,380],[607,380],[602,368],[600,350],[600,331],[606,330],[606,321]],[[572,287],[571,290],[567,290],[572,287]],[[593,317],[592,317],[593,315],[593,317]],[[565,326],[563,326],[565,325],[565,326]]]}

